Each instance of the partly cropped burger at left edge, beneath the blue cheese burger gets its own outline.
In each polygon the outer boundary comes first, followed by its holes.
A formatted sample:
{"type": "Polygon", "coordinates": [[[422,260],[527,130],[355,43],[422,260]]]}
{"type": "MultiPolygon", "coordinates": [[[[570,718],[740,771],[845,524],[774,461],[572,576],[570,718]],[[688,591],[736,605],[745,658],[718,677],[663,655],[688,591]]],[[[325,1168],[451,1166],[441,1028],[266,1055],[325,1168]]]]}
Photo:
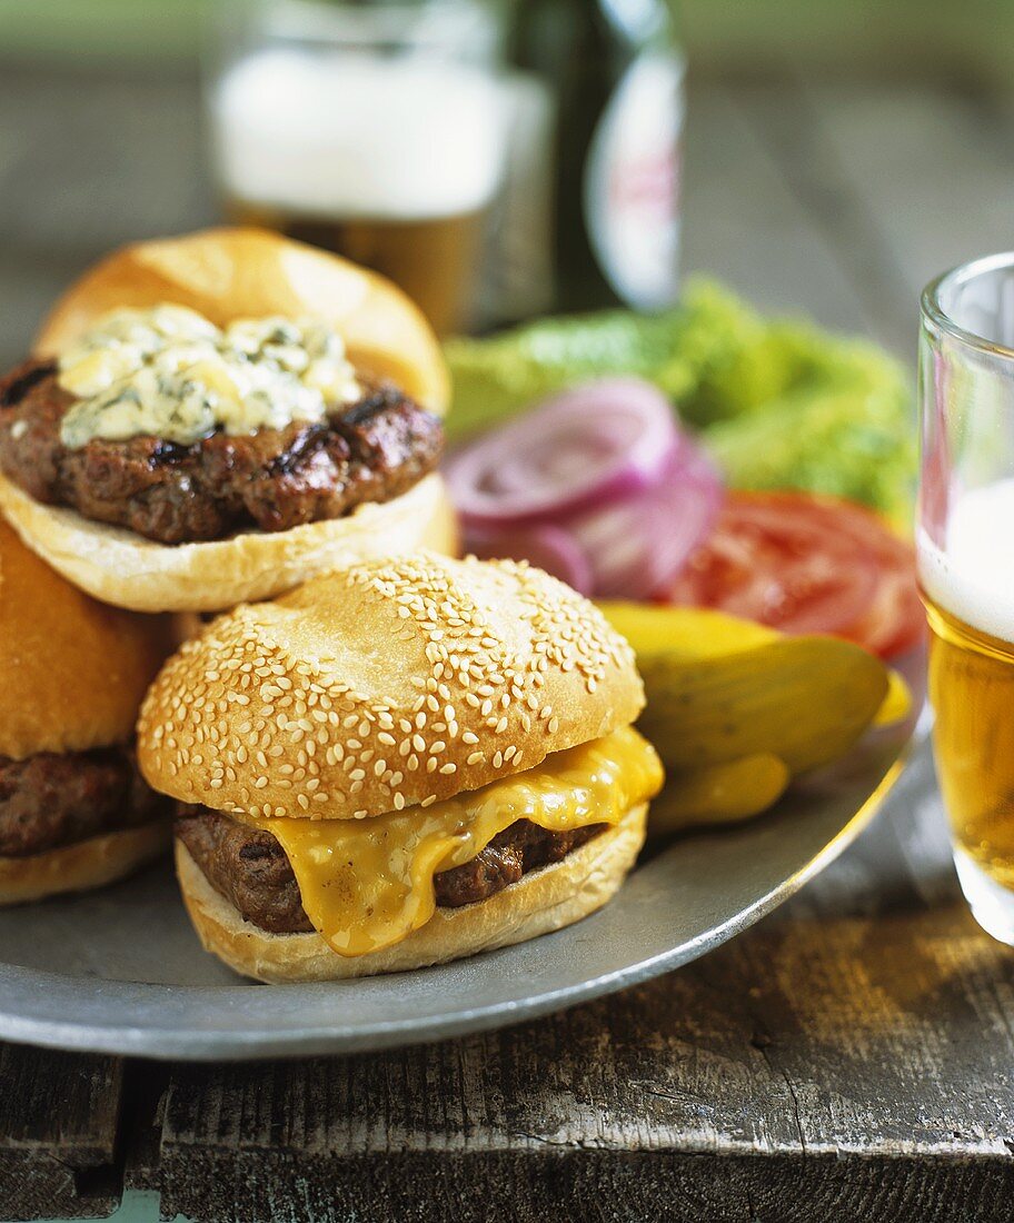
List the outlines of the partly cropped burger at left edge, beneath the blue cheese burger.
{"type": "Polygon", "coordinates": [[[105,607],[0,520],[0,905],[110,883],[169,844],[133,724],[166,625],[105,607]]]}

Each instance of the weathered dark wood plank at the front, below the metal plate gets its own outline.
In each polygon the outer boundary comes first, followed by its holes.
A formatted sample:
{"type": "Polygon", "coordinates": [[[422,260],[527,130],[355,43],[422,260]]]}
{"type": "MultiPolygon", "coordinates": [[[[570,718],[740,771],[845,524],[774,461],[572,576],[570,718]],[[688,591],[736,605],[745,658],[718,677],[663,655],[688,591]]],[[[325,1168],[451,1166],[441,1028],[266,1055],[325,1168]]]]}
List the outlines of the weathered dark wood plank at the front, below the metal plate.
{"type": "Polygon", "coordinates": [[[471,1192],[459,1217],[487,1218],[477,1186],[514,1184],[514,1217],[535,1219],[598,1184],[613,1196],[581,1201],[591,1218],[689,1218],[691,1203],[711,1217],[749,1218],[752,1203],[764,1219],[1007,1218],[1013,1003],[1014,965],[959,903],[775,918],[670,977],[514,1031],[180,1069],[163,1207],[250,1223],[426,1218],[471,1192]]]}

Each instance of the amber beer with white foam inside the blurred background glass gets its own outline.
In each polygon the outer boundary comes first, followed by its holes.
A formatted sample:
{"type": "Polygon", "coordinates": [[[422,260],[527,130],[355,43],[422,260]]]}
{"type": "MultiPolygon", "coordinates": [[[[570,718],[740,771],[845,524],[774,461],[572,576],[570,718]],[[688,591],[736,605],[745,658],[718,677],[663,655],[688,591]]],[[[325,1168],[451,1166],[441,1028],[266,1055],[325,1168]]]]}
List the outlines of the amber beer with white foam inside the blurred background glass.
{"type": "Polygon", "coordinates": [[[226,213],[374,268],[438,331],[465,329],[503,169],[500,103],[466,64],[259,51],[212,99],[226,213]]]}

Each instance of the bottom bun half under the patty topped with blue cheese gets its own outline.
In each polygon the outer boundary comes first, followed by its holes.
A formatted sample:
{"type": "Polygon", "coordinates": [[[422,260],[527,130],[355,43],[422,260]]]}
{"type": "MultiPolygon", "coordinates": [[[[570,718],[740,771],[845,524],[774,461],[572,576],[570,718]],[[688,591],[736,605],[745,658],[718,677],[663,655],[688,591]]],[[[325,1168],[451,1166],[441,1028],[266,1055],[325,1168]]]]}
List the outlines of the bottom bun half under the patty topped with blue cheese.
{"type": "Polygon", "coordinates": [[[42,505],[4,476],[0,511],[75,586],[135,612],[220,612],[367,556],[457,550],[454,510],[435,472],[393,501],[366,503],[344,519],[171,547],[42,505]]]}

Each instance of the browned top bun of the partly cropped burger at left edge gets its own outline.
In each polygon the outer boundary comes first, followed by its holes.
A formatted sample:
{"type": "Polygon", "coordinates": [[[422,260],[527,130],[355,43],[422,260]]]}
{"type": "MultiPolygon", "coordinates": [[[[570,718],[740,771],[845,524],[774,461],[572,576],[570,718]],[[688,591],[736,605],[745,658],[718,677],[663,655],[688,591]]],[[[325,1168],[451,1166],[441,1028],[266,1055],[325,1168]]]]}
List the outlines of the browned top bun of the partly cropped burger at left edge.
{"type": "Polygon", "coordinates": [[[170,648],[165,620],[82,594],[0,520],[0,756],[131,739],[170,648]]]}

